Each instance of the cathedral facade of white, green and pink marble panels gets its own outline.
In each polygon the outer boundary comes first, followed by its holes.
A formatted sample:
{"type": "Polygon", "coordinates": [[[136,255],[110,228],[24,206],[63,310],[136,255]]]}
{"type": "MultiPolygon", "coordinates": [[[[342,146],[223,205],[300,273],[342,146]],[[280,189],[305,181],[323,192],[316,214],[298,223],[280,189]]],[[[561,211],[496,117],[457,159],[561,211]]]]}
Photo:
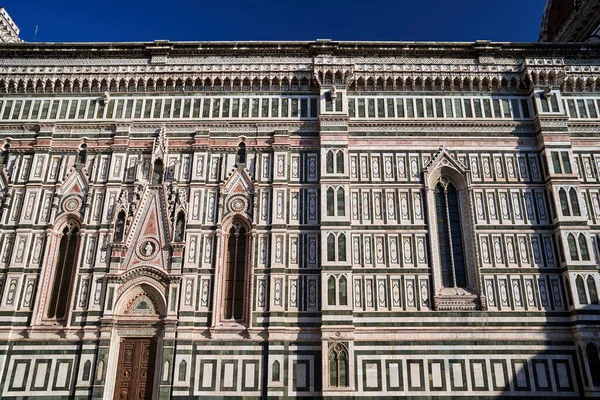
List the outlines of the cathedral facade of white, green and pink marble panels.
{"type": "Polygon", "coordinates": [[[599,45],[5,28],[1,398],[600,396],[599,45]]]}

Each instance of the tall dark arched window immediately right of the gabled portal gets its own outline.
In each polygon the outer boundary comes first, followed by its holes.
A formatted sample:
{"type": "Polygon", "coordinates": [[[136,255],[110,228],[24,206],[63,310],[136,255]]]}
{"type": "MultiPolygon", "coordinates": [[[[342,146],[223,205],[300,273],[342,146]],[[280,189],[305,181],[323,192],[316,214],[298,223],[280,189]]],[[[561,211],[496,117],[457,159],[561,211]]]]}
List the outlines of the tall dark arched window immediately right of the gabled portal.
{"type": "Polygon", "coordinates": [[[234,222],[227,243],[227,271],[223,317],[241,320],[244,312],[244,274],[246,272],[246,230],[234,222]]]}

